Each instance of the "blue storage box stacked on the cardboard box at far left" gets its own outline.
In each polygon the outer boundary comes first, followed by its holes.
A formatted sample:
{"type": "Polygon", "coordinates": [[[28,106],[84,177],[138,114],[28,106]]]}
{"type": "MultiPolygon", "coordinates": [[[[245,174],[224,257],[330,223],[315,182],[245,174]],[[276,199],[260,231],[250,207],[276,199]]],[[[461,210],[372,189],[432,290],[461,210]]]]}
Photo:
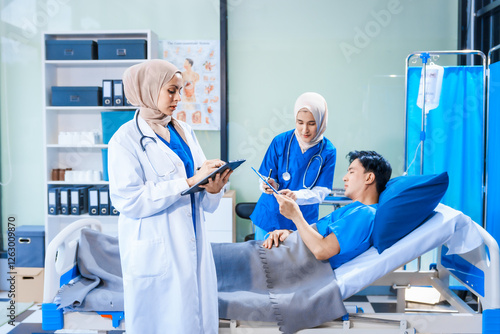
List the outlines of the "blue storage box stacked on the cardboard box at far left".
{"type": "Polygon", "coordinates": [[[21,225],[16,230],[16,267],[43,268],[45,264],[45,227],[21,225]]]}

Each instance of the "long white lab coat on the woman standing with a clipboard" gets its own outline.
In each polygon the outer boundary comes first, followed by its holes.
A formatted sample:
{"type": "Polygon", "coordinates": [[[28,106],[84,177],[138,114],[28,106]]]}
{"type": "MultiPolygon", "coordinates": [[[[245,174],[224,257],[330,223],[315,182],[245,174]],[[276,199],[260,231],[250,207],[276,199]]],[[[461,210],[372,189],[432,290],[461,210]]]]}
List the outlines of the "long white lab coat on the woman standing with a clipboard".
{"type": "MultiPolygon", "coordinates": [[[[191,127],[179,122],[198,168],[206,160],[191,127]]],[[[217,276],[204,211],[213,212],[222,192],[199,192],[196,236],[182,160],[139,117],[151,169],[139,144],[135,118],[109,142],[111,201],[120,212],[120,257],[127,334],[217,333],[217,276]]]]}

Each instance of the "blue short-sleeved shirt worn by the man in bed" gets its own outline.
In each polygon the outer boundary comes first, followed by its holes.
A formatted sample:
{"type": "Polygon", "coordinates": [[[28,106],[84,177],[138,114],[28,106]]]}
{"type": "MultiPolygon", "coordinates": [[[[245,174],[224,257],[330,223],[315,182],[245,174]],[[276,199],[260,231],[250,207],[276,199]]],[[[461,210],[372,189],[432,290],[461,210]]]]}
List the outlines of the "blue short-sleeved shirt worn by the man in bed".
{"type": "Polygon", "coordinates": [[[326,237],[335,234],[340,244],[340,253],[329,261],[333,269],[366,251],[373,244],[373,222],[378,204],[365,205],[354,202],[333,211],[316,224],[318,232],[326,237]]]}

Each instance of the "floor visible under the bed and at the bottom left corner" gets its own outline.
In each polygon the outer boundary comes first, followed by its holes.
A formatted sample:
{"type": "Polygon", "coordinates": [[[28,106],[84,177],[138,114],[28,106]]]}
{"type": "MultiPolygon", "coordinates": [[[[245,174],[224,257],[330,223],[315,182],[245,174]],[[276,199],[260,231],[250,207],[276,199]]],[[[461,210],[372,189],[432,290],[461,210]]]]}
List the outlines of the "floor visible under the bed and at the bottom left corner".
{"type": "MultiPolygon", "coordinates": [[[[464,296],[466,302],[477,310],[477,303],[468,295],[464,296]]],[[[8,301],[7,293],[0,292],[0,301],[8,301]]],[[[395,295],[355,295],[344,301],[346,308],[351,312],[353,306],[361,308],[359,312],[363,313],[394,313],[396,312],[396,296],[395,295]]],[[[407,310],[412,311],[437,311],[447,312],[453,308],[447,302],[441,302],[435,305],[410,303],[407,302],[407,310]]],[[[42,330],[42,307],[41,304],[35,304],[28,310],[24,311],[16,317],[15,326],[8,323],[0,327],[0,334],[38,334],[38,333],[54,333],[54,331],[42,330]]],[[[110,331],[108,334],[123,334],[124,331],[110,331]]]]}

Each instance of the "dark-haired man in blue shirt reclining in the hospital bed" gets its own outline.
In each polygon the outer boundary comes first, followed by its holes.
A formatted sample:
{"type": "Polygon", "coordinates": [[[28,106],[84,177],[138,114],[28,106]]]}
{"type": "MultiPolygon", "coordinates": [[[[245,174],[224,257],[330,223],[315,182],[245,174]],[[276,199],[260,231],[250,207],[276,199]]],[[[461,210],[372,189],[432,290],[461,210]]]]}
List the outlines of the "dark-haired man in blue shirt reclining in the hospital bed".
{"type": "MultiPolygon", "coordinates": [[[[373,151],[352,151],[349,168],[343,180],[345,196],[353,203],[320,219],[317,230],[302,216],[299,206],[283,195],[274,195],[280,213],[297,226],[307,248],[318,260],[329,260],[333,269],[366,251],[372,245],[371,234],[380,193],[391,178],[389,162],[373,151]]],[[[292,233],[275,230],[264,241],[265,248],[278,247],[292,233]]]]}

